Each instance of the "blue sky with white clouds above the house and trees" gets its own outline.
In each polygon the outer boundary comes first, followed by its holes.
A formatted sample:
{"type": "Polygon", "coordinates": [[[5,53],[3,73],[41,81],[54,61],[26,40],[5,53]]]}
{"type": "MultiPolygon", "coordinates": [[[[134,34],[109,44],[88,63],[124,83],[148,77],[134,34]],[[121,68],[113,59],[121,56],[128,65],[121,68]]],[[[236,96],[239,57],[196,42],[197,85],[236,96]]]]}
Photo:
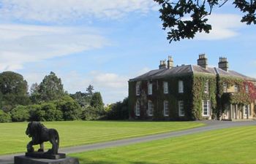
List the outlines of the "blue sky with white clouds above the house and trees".
{"type": "Polygon", "coordinates": [[[214,9],[213,30],[167,41],[153,0],[0,0],[0,72],[22,74],[29,85],[56,73],[68,93],[94,86],[105,104],[128,96],[128,81],[171,55],[174,64],[209,66],[226,57],[231,70],[256,77],[256,28],[240,23],[233,4],[214,9]]]}

